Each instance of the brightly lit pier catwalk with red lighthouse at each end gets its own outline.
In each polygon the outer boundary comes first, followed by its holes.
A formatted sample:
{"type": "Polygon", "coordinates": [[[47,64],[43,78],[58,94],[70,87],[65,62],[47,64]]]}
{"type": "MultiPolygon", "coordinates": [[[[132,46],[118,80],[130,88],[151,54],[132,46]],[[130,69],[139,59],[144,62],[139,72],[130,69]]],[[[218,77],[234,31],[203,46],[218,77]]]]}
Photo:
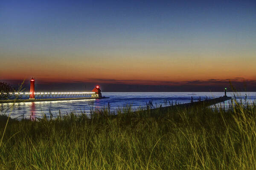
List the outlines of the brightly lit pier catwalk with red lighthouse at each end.
{"type": "MultiPolygon", "coordinates": [[[[29,91],[29,99],[35,99],[35,95],[62,95],[67,97],[68,95],[75,96],[82,96],[85,97],[86,95],[90,94],[91,97],[102,97],[101,90],[99,86],[97,85],[95,88],[93,88],[92,92],[38,92],[35,93],[35,79],[32,77],[30,79],[30,91],[29,91]]],[[[88,97],[88,96],[87,96],[88,97]]]]}

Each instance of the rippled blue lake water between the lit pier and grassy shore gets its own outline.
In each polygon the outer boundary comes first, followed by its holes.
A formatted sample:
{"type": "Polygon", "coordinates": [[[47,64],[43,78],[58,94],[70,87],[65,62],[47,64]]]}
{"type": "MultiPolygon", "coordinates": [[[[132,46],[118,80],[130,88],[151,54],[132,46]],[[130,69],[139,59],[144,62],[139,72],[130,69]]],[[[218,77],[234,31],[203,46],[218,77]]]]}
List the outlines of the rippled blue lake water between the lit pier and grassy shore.
{"type": "MultiPolygon", "coordinates": [[[[256,101],[256,92],[238,92],[236,97],[244,101],[247,94],[247,102],[256,101]]],[[[6,111],[10,104],[0,104],[0,112],[11,113],[12,118],[20,116],[18,119],[29,119],[31,113],[34,117],[41,117],[42,114],[49,116],[49,111],[53,115],[57,115],[59,110],[62,114],[70,113],[71,111],[90,113],[90,110],[108,107],[108,103],[112,111],[117,108],[123,108],[126,105],[132,105],[132,108],[145,108],[146,103],[152,102],[155,107],[169,106],[170,103],[187,103],[191,101],[191,96],[194,101],[199,97],[201,100],[206,98],[215,98],[223,96],[224,92],[103,92],[103,96],[110,97],[110,99],[90,99],[90,100],[73,100],[73,101],[53,101],[53,102],[27,102],[15,105],[12,111],[6,111]],[[22,116],[21,116],[22,115],[22,116]]],[[[227,93],[227,96],[233,96],[233,93],[227,93]]],[[[224,102],[228,105],[228,102],[224,102]]]]}

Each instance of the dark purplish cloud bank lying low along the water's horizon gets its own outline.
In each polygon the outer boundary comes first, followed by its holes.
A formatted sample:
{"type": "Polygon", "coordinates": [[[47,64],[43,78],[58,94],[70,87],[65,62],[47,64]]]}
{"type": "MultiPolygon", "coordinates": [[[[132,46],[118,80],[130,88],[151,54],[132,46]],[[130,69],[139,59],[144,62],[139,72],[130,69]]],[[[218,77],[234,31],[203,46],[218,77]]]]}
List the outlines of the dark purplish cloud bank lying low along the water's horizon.
{"type": "MultiPolygon", "coordinates": [[[[18,85],[23,80],[4,79],[12,85],[18,85]]],[[[237,89],[256,91],[255,79],[207,79],[191,81],[157,81],[143,79],[36,79],[36,88],[39,91],[49,90],[86,90],[90,91],[95,85],[100,85],[104,91],[223,91],[230,86],[230,81],[237,89]]],[[[29,88],[29,79],[24,82],[25,88],[29,88]]]]}

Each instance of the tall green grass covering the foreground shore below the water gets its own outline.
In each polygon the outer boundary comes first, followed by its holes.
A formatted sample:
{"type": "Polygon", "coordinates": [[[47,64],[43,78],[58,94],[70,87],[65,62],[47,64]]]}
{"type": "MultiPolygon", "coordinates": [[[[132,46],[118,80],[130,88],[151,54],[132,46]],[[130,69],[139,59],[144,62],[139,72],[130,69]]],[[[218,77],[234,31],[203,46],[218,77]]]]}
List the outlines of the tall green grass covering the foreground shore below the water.
{"type": "Polygon", "coordinates": [[[0,169],[256,169],[256,105],[9,120],[0,169]]]}

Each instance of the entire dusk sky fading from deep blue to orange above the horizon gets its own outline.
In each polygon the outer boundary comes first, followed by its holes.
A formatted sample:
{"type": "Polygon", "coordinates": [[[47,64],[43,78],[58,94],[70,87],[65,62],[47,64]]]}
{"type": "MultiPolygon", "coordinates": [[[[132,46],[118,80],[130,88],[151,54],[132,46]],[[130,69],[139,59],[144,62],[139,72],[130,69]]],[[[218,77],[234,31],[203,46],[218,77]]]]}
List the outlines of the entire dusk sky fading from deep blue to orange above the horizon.
{"type": "Polygon", "coordinates": [[[256,91],[255,0],[1,0],[0,81],[36,90],[256,91]]]}

